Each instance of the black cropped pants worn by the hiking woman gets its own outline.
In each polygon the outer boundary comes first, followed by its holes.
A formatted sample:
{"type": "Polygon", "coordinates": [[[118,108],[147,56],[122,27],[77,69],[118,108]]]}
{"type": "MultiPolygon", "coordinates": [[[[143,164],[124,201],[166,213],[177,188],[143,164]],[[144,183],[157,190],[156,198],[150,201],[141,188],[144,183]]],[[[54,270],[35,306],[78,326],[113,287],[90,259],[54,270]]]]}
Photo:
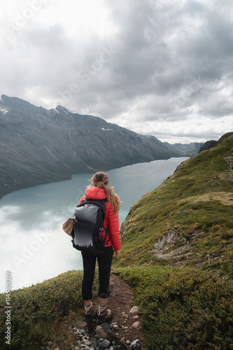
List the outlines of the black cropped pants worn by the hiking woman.
{"type": "Polygon", "coordinates": [[[90,255],[82,252],[83,256],[83,285],[82,297],[84,300],[92,299],[92,285],[96,260],[99,265],[99,297],[109,297],[109,279],[113,260],[113,247],[107,246],[103,253],[90,255]]]}

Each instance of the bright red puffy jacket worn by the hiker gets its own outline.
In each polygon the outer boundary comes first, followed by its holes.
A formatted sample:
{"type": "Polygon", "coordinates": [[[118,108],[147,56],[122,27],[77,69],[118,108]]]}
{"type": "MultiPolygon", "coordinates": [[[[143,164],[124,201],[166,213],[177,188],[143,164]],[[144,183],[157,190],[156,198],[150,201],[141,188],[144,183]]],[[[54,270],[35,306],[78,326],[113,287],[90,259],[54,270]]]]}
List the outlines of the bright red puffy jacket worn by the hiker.
{"type": "MultiPolygon", "coordinates": [[[[85,196],[80,199],[80,202],[83,202],[85,197],[89,198],[90,200],[104,200],[107,196],[104,188],[90,187],[87,188],[85,191],[85,196]]],[[[108,244],[105,244],[105,246],[113,246],[115,251],[119,251],[121,248],[119,216],[118,214],[114,215],[113,207],[109,204],[109,202],[105,202],[104,228],[111,235],[111,239],[109,239],[109,241],[106,239],[108,244]]]]}

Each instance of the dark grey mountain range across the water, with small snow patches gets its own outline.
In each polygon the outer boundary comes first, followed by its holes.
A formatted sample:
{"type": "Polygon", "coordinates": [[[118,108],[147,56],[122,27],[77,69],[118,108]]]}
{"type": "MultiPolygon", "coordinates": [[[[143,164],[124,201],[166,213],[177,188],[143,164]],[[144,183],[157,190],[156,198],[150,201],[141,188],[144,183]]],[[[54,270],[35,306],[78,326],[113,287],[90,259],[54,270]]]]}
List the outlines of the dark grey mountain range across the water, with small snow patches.
{"type": "Polygon", "coordinates": [[[162,143],[153,136],[63,106],[36,107],[17,97],[0,99],[0,197],[72,174],[138,162],[192,156],[203,144],[162,143]]]}

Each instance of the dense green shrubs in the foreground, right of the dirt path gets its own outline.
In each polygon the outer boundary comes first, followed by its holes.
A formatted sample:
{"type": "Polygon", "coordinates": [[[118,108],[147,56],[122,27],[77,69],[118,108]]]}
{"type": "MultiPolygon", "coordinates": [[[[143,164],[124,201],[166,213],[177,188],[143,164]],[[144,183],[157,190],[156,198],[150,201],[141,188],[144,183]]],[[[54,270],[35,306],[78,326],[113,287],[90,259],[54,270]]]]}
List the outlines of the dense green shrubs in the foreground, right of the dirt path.
{"type": "Polygon", "coordinates": [[[134,290],[146,349],[232,349],[233,290],[224,281],[178,267],[115,272],[134,290]]]}

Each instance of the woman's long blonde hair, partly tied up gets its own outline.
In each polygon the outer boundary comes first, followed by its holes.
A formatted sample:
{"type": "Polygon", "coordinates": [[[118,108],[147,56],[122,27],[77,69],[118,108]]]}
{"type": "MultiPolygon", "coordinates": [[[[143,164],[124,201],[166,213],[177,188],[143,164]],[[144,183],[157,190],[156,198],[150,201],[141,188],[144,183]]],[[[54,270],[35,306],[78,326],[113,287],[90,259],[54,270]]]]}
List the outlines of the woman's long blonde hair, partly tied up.
{"type": "MultiPolygon", "coordinates": [[[[120,198],[114,193],[114,187],[108,186],[108,180],[108,173],[106,172],[97,172],[90,179],[95,187],[104,188],[108,202],[113,207],[114,214],[118,214],[120,210],[120,198]]],[[[93,186],[89,185],[88,187],[93,186]]]]}

